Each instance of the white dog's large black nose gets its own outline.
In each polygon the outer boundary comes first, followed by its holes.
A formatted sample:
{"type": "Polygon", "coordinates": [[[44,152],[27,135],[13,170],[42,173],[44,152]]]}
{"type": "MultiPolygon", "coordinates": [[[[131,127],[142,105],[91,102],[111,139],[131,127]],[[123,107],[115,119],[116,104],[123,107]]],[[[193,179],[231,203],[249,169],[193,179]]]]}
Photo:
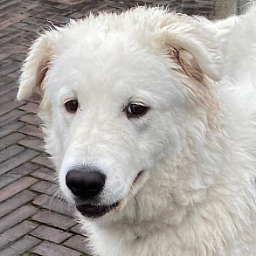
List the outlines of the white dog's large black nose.
{"type": "Polygon", "coordinates": [[[75,196],[87,200],[100,194],[106,176],[98,170],[69,170],[66,175],[66,186],[75,196]]]}

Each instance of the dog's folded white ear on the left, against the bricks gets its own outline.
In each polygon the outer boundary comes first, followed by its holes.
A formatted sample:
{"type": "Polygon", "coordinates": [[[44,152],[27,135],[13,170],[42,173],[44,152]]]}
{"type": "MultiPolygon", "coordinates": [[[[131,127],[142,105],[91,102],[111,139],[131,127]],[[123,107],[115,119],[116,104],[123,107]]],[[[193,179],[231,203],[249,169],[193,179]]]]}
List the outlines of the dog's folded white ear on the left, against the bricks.
{"type": "Polygon", "coordinates": [[[17,100],[25,100],[31,96],[35,88],[43,91],[45,74],[51,66],[52,59],[57,53],[56,45],[59,31],[46,31],[35,40],[22,66],[19,78],[17,100]]]}

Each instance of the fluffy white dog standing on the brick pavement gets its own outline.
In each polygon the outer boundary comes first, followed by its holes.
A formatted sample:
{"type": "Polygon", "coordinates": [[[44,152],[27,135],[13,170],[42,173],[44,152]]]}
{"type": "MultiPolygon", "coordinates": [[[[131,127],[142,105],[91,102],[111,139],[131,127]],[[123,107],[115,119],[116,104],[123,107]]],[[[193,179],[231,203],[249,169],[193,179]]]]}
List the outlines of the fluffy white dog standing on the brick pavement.
{"type": "Polygon", "coordinates": [[[256,255],[256,10],[135,8],[45,31],[46,150],[100,256],[256,255]]]}

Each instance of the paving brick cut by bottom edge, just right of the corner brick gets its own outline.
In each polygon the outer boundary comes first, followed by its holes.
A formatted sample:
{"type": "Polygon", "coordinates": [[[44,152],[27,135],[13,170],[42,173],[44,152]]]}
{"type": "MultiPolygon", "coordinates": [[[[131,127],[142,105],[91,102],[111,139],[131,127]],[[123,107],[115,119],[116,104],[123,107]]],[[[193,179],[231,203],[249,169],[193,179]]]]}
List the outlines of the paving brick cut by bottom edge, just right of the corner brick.
{"type": "Polygon", "coordinates": [[[81,255],[83,255],[80,252],[74,251],[65,246],[59,246],[59,245],[53,244],[48,241],[44,241],[39,246],[36,246],[31,252],[37,253],[38,255],[41,255],[41,256],[52,256],[52,255],[54,255],[54,256],[63,256],[63,255],[81,256],[81,255]]]}

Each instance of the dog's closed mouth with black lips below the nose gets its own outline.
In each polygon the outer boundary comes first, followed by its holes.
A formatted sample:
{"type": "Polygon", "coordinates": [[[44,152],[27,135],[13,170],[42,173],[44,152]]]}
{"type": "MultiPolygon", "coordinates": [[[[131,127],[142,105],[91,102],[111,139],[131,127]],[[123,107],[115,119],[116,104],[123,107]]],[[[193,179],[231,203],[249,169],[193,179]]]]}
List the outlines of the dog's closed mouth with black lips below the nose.
{"type": "Polygon", "coordinates": [[[134,183],[132,185],[132,189],[128,193],[128,196],[119,200],[118,202],[115,202],[114,204],[111,205],[92,205],[92,204],[78,204],[76,205],[77,211],[80,211],[80,213],[87,217],[87,218],[100,218],[104,216],[107,212],[113,211],[114,209],[116,211],[121,211],[124,206],[127,204],[128,199],[132,196],[135,195],[134,188],[135,188],[135,183],[139,180],[139,178],[142,176],[143,170],[138,173],[138,175],[135,177],[134,183]]]}

